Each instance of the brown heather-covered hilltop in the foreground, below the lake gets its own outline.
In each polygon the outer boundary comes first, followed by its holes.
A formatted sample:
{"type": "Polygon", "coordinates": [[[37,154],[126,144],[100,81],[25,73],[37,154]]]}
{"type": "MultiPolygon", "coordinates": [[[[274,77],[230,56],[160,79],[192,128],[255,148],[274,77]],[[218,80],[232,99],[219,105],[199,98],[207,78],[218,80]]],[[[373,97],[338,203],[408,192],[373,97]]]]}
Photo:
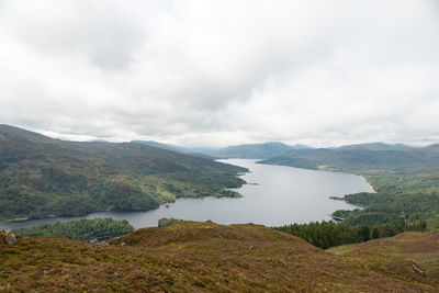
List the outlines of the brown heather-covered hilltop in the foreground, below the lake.
{"type": "MultiPolygon", "coordinates": [[[[1,237],[0,237],[1,239],[1,237]]],[[[421,238],[419,238],[421,239],[421,238]]],[[[425,239],[421,239],[425,240],[425,239]]],[[[63,238],[0,241],[0,290],[153,292],[437,292],[402,256],[337,256],[259,225],[185,222],[104,245],[63,238]]],[[[439,248],[436,246],[436,253],[439,248]]]]}

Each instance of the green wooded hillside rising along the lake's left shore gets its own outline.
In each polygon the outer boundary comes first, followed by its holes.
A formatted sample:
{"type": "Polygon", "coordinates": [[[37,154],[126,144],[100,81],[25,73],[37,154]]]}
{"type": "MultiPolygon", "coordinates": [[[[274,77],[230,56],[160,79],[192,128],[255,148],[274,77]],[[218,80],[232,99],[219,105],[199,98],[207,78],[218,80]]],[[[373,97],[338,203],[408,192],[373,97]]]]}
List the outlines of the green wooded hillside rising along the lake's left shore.
{"type": "Polygon", "coordinates": [[[76,143],[0,125],[0,221],[150,210],[180,196],[238,196],[246,169],[140,144],[76,143]]]}

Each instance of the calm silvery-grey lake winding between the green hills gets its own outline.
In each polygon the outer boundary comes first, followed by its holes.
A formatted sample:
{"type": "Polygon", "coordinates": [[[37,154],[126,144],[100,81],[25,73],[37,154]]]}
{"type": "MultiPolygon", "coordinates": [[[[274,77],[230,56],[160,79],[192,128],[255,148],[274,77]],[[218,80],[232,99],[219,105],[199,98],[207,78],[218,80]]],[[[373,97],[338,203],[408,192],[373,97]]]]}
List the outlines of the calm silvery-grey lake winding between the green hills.
{"type": "Polygon", "coordinates": [[[278,226],[291,223],[330,219],[336,210],[352,210],[357,206],[329,196],[348,193],[372,192],[372,188],[360,176],[314,171],[285,166],[256,164],[250,159],[221,160],[250,170],[243,176],[248,183],[234,189],[244,195],[240,199],[204,198],[178,199],[169,207],[160,206],[148,212],[97,212],[85,216],[53,217],[0,224],[0,229],[31,227],[44,223],[67,222],[79,218],[111,217],[127,219],[134,227],[157,226],[162,217],[192,221],[212,219],[219,224],[255,223],[278,226]]]}

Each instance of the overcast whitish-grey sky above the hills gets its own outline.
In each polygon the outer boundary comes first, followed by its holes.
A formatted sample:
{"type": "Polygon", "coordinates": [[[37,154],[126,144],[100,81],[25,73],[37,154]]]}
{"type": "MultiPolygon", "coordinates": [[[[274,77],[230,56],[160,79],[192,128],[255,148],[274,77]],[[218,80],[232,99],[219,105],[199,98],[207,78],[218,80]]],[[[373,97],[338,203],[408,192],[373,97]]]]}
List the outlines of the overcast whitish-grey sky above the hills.
{"type": "Polygon", "coordinates": [[[438,143],[438,3],[0,0],[0,123],[192,146],[438,143]]]}

